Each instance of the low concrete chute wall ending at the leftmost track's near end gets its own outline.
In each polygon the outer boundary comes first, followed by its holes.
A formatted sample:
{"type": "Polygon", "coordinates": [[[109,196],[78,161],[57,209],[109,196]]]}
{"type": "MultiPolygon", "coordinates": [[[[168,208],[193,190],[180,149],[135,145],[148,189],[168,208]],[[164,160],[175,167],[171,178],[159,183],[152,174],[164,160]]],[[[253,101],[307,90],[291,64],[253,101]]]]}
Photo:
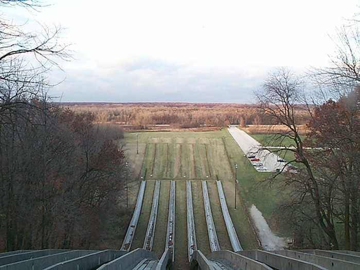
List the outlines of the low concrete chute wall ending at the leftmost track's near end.
{"type": "Polygon", "coordinates": [[[125,253],[126,251],[123,250],[106,249],[85,256],[81,256],[75,259],[53,264],[45,268],[45,270],[65,270],[65,269],[92,270],[104,263],[110,262],[124,255],[125,253]]]}

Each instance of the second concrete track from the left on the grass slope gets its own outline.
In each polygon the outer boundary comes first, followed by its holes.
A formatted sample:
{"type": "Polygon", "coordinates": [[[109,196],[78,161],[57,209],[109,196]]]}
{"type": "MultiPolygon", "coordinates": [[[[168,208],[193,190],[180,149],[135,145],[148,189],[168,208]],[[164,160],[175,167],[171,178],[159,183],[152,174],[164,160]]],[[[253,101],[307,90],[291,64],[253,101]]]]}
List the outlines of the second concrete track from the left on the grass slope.
{"type": "Polygon", "coordinates": [[[160,181],[156,181],[154,188],[154,195],[153,195],[153,203],[151,206],[150,218],[148,222],[148,228],[146,230],[145,240],[143,244],[143,248],[150,251],[153,249],[153,243],[154,243],[157,209],[159,206],[159,194],[160,194],[160,181]]]}

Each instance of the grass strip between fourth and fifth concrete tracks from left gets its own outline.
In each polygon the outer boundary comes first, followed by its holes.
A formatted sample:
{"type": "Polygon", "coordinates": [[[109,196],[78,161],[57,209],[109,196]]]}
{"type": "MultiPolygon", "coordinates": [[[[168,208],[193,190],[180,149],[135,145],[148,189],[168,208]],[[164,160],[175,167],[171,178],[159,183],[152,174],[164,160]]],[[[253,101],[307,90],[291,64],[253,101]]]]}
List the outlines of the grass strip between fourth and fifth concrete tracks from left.
{"type": "Polygon", "coordinates": [[[209,236],[207,233],[207,225],[204,209],[204,198],[201,181],[192,181],[192,207],[194,210],[194,222],[196,232],[197,249],[203,254],[210,254],[209,236]]]}

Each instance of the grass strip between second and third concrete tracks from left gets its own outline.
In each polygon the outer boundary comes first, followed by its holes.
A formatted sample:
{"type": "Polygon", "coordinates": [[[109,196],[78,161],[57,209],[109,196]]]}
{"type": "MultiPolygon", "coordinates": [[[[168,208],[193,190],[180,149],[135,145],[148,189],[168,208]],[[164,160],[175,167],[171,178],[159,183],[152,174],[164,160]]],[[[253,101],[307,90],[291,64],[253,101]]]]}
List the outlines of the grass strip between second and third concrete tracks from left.
{"type": "Polygon", "coordinates": [[[161,181],[159,206],[157,209],[157,221],[155,227],[153,251],[157,258],[163,255],[166,242],[166,231],[168,225],[168,210],[170,197],[170,181],[161,181]]]}

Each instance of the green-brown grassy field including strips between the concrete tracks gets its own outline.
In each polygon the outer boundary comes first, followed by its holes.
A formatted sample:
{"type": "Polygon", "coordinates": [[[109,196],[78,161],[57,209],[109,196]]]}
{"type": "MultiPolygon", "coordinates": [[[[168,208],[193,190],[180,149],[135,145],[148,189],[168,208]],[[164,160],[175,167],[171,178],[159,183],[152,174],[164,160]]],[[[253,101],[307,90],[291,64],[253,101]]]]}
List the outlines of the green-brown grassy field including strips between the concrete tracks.
{"type": "MultiPolygon", "coordinates": [[[[219,204],[216,179],[220,179],[223,183],[230,216],[244,249],[257,248],[256,235],[248,219],[248,207],[255,204],[263,212],[264,217],[270,221],[270,225],[276,225],[276,221],[273,222],[272,218],[281,193],[276,187],[259,186],[259,183],[269,174],[259,173],[250,165],[226,129],[216,132],[125,133],[123,142],[126,146],[131,146],[132,153],[129,158],[131,163],[136,164],[134,170],[139,172],[140,177],[149,181],[132,249],[142,246],[145,237],[154,190],[153,181],[150,180],[155,179],[163,182],[160,189],[159,215],[154,240],[154,251],[157,256],[163,252],[165,246],[169,181],[173,179],[177,182],[175,220],[175,266],[177,268],[187,266],[186,180],[193,181],[197,245],[205,254],[210,252],[210,246],[201,180],[208,181],[211,209],[222,248],[231,249],[231,244],[219,204]],[[137,134],[139,149],[141,149],[139,155],[136,154],[137,134]],[[223,136],[226,136],[225,140],[223,136]],[[237,209],[234,209],[235,163],[239,165],[237,209]]],[[[273,229],[276,231],[276,226],[273,229]]]]}

